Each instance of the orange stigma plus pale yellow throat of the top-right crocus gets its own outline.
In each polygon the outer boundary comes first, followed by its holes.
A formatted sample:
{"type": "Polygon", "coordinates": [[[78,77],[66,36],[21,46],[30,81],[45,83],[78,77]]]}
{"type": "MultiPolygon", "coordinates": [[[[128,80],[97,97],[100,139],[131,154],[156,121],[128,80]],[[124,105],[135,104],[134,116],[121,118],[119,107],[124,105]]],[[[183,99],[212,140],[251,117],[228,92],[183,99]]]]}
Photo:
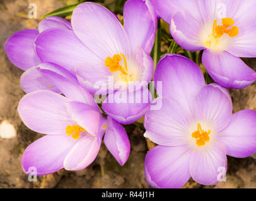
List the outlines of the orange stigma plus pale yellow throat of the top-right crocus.
{"type": "Polygon", "coordinates": [[[218,25],[217,19],[215,19],[212,26],[212,33],[206,35],[206,38],[204,38],[204,46],[214,50],[223,50],[225,42],[223,40],[220,41],[221,36],[226,34],[227,36],[230,36],[230,38],[234,38],[239,33],[238,27],[233,26],[234,24],[235,21],[232,18],[223,18],[222,25],[218,25]]]}

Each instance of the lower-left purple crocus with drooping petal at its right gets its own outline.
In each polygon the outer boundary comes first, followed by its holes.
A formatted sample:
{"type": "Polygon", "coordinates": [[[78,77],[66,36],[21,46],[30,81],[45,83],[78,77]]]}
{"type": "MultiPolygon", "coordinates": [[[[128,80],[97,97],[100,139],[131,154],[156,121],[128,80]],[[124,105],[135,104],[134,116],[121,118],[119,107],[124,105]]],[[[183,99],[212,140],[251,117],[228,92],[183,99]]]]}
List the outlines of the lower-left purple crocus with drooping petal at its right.
{"type": "Polygon", "coordinates": [[[72,73],[54,63],[42,63],[37,70],[65,96],[37,90],[20,100],[18,112],[25,125],[47,134],[26,148],[23,170],[30,173],[36,168],[37,175],[47,175],[61,168],[86,168],[95,160],[105,131],[107,148],[124,165],[130,152],[124,128],[111,117],[106,121],[93,96],[72,73]]]}

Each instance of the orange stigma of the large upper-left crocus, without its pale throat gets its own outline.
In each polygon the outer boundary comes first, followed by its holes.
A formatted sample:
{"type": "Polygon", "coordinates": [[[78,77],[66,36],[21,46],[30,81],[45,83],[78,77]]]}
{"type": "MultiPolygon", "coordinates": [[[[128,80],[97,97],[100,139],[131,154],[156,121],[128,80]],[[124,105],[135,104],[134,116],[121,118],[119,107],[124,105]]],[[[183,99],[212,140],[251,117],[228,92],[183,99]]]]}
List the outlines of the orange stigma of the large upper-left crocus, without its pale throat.
{"type": "Polygon", "coordinates": [[[110,72],[120,71],[123,75],[128,75],[127,73],[127,60],[124,54],[120,53],[120,55],[113,55],[113,58],[107,57],[105,60],[105,67],[108,67],[110,72]],[[124,58],[124,67],[122,67],[119,63],[124,58]]]}

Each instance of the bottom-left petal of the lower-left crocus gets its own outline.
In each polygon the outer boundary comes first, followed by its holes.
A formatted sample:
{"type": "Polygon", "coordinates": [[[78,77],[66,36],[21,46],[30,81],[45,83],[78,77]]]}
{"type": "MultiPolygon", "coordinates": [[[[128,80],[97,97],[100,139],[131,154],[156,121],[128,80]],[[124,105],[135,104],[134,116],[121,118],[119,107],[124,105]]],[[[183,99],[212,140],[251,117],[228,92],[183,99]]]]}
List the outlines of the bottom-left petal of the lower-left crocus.
{"type": "Polygon", "coordinates": [[[47,135],[28,146],[21,165],[27,174],[48,175],[61,170],[64,159],[77,141],[66,135],[47,135]]]}

